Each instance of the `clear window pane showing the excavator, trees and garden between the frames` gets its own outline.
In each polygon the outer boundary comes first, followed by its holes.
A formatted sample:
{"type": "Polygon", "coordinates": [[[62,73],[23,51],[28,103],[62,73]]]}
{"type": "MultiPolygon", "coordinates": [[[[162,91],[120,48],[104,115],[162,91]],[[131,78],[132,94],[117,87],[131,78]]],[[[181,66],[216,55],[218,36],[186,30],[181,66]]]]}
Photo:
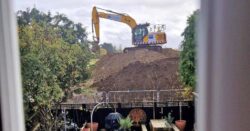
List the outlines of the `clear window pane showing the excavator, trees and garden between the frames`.
{"type": "Polygon", "coordinates": [[[196,0],[15,0],[26,129],[193,130],[198,8],[196,0]],[[149,31],[139,28],[147,22],[149,31]]]}

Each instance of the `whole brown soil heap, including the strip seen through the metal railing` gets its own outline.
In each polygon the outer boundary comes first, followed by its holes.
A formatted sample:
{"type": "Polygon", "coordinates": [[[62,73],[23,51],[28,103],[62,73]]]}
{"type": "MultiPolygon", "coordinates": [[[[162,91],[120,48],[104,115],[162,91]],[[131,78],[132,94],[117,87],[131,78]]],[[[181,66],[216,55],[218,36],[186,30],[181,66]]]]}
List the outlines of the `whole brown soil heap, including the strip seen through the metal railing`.
{"type": "MultiPolygon", "coordinates": [[[[129,91],[109,93],[108,99],[116,102],[155,100],[152,92],[135,93],[135,90],[180,89],[178,80],[179,51],[170,48],[162,52],[140,49],[129,53],[109,54],[102,57],[92,73],[91,87],[95,95],[74,95],[69,103],[92,103],[106,100],[109,91],[129,91]]],[[[156,92],[155,92],[156,93],[156,92]]],[[[160,92],[160,100],[177,100],[175,92],[160,92]],[[164,94],[165,93],[165,94],[164,94]]]]}

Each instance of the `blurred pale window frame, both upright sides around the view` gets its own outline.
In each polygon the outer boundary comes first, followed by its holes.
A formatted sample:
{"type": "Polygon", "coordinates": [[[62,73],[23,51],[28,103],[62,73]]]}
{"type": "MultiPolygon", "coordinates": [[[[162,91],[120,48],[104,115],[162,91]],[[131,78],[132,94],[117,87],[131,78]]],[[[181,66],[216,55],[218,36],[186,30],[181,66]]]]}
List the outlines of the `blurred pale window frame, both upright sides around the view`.
{"type": "MultiPolygon", "coordinates": [[[[12,0],[0,0],[2,128],[24,131],[20,56],[12,5],[12,0]]],[[[249,0],[201,0],[198,131],[249,130],[249,7],[249,0]]]]}

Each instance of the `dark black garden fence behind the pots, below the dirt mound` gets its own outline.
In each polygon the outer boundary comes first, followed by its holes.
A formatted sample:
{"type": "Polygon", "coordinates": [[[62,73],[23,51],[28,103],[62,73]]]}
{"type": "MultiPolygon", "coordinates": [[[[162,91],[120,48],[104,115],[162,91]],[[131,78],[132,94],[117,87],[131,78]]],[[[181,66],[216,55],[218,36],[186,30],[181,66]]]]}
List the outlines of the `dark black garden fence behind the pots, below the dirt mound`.
{"type": "MultiPolygon", "coordinates": [[[[187,121],[186,125],[186,131],[192,131],[193,125],[194,125],[194,102],[186,102],[185,106],[182,107],[182,119],[187,121]]],[[[157,106],[157,104],[154,104],[157,106]]],[[[134,107],[122,107],[119,106],[116,108],[116,111],[122,114],[124,117],[126,117],[129,112],[134,107]]],[[[153,107],[136,107],[143,109],[147,115],[147,122],[146,126],[149,129],[149,121],[150,119],[153,119],[153,107]]],[[[82,127],[83,123],[90,122],[90,109],[86,108],[86,105],[82,105],[81,109],[67,109],[68,115],[67,118],[70,118],[72,122],[76,123],[78,127],[82,127]]],[[[93,121],[99,123],[99,129],[104,128],[104,120],[105,117],[111,113],[114,112],[114,108],[99,108],[95,111],[93,116],[93,121]]],[[[179,119],[179,106],[169,106],[168,103],[166,103],[165,106],[161,105],[161,107],[155,107],[155,119],[163,118],[164,116],[167,116],[168,112],[172,113],[172,116],[174,117],[174,120],[179,119]]]]}

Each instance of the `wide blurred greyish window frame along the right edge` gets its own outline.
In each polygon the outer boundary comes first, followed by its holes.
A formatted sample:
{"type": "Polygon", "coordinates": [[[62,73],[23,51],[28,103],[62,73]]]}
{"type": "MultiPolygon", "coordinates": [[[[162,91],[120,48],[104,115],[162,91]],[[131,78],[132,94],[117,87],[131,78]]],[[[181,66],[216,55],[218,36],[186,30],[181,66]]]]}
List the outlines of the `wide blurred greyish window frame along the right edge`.
{"type": "Polygon", "coordinates": [[[250,1],[202,0],[198,131],[250,130],[250,1]]]}

